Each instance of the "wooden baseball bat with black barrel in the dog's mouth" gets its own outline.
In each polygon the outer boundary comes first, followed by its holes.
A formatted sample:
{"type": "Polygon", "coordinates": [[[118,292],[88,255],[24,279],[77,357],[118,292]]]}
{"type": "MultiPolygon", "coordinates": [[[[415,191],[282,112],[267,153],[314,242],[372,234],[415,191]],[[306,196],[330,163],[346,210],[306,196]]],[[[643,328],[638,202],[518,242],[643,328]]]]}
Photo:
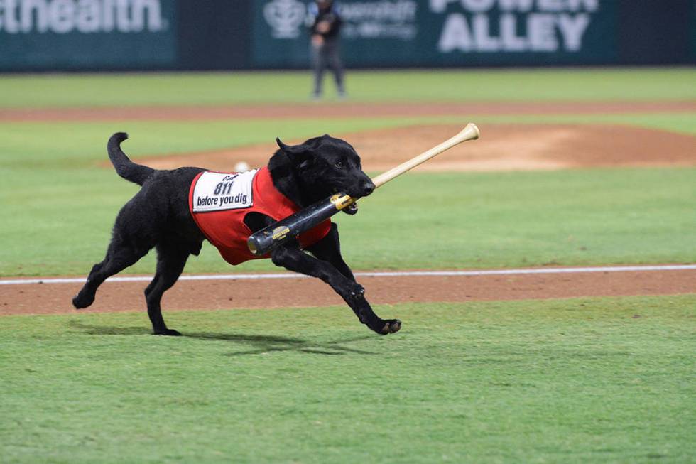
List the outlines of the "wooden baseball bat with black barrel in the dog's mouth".
{"type": "MultiPolygon", "coordinates": [[[[474,123],[467,124],[459,134],[445,140],[442,144],[434,146],[428,151],[420,153],[420,155],[411,158],[410,160],[401,163],[400,165],[391,168],[385,173],[381,173],[372,179],[375,188],[379,188],[389,180],[401,176],[401,174],[410,171],[430,158],[439,155],[445,150],[451,149],[457,144],[461,144],[467,140],[476,140],[479,138],[479,128],[474,123]]],[[[286,217],[283,220],[269,225],[258,232],[251,234],[246,244],[249,246],[249,251],[257,256],[261,256],[270,252],[278,245],[285,242],[290,237],[297,237],[299,234],[310,230],[327,220],[332,215],[335,215],[340,210],[352,205],[357,201],[357,198],[352,198],[345,193],[337,193],[326,200],[321,200],[305,207],[303,210],[295,212],[295,214],[286,217]]]]}

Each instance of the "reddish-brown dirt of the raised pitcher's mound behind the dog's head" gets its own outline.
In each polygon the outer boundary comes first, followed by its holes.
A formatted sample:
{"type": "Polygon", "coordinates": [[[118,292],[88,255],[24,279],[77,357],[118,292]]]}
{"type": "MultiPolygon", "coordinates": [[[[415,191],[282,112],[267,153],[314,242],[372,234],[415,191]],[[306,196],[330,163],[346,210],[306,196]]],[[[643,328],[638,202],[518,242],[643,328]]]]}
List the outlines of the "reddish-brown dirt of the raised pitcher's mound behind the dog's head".
{"type": "MultiPolygon", "coordinates": [[[[451,124],[332,134],[349,141],[366,171],[386,171],[457,134],[451,124]]],[[[656,129],[617,125],[480,124],[481,139],[430,159],[417,171],[529,171],[587,167],[693,166],[696,139],[656,129]]],[[[300,143],[302,140],[286,140],[300,143]]],[[[273,143],[236,149],[138,158],[158,169],[201,166],[229,171],[239,161],[265,166],[273,143]]],[[[102,163],[110,166],[108,161],[102,163]]]]}

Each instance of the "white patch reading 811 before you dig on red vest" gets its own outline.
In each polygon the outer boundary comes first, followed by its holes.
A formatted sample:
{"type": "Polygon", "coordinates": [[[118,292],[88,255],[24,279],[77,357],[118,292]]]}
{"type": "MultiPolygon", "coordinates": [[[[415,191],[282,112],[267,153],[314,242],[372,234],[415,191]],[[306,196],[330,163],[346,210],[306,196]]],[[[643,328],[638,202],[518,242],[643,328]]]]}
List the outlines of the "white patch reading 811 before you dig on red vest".
{"type": "Polygon", "coordinates": [[[251,183],[258,169],[245,173],[202,173],[193,188],[193,212],[237,210],[254,204],[251,183]]]}

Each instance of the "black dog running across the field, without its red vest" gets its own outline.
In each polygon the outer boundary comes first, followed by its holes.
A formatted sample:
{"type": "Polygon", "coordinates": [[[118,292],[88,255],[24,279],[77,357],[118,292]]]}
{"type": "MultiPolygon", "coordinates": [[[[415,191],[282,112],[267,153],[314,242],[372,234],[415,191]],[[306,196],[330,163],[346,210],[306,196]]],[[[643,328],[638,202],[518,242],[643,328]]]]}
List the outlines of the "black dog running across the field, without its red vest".
{"type": "MultiPolygon", "coordinates": [[[[121,208],[116,217],[112,241],[104,261],[95,264],[85,286],[72,298],[75,308],[87,308],[94,301],[99,285],[134,264],[153,247],[157,249],[157,271],[145,289],[148,315],[156,335],[180,335],[167,328],[162,318],[162,295],[179,278],[190,254],[198,255],[206,236],[194,220],[189,206],[192,182],[206,171],[202,168],[178,168],[158,171],[133,163],[121,151],[121,142],[128,136],[114,134],[107,144],[119,176],[142,185],[141,190],[121,208]]],[[[360,157],[352,146],[328,135],[288,146],[276,139],[280,149],[268,162],[273,188],[300,209],[323,200],[336,192],[353,198],[372,193],[374,184],[362,171],[360,157]]],[[[290,204],[292,204],[290,203],[290,204]]],[[[347,212],[354,214],[356,208],[347,212]]],[[[251,232],[276,222],[272,217],[249,212],[244,225],[251,232]]],[[[376,333],[394,333],[401,328],[397,319],[379,318],[364,297],[364,288],[357,284],[352,271],[341,257],[337,226],[303,251],[297,240],[290,240],[271,252],[276,266],[318,277],[329,284],[361,323],[376,333]]]]}

